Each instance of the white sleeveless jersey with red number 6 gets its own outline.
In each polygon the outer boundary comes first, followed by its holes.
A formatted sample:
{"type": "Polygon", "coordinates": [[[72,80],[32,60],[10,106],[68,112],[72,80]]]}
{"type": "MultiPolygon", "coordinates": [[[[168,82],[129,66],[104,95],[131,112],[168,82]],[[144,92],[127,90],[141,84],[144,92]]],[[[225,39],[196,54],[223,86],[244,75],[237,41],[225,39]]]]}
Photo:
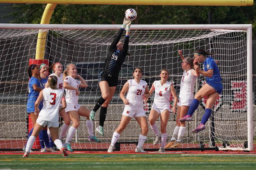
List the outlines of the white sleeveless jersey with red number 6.
{"type": "Polygon", "coordinates": [[[155,108],[170,108],[171,85],[172,83],[169,81],[166,81],[163,85],[161,80],[154,81],[155,98],[153,106],[155,108]]]}

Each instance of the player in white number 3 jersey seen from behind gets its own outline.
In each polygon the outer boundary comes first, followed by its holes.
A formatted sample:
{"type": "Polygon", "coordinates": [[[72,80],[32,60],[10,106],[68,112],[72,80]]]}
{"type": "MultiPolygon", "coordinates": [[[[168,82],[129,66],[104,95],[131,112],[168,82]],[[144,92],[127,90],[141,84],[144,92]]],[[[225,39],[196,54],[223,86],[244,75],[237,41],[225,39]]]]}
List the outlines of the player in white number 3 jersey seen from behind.
{"type": "Polygon", "coordinates": [[[48,79],[49,88],[45,88],[40,91],[39,96],[35,102],[35,115],[39,113],[39,104],[44,99],[44,106],[40,111],[32,135],[28,138],[26,151],[23,157],[28,157],[29,152],[36,140],[39,132],[44,128],[48,127],[52,134],[52,139],[58,149],[61,151],[64,157],[68,156],[65,147],[60,139],[58,139],[59,132],[59,110],[66,108],[65,96],[62,90],[56,87],[57,77],[50,76],[48,79]],[[60,106],[60,102],[62,106],[60,106]]]}

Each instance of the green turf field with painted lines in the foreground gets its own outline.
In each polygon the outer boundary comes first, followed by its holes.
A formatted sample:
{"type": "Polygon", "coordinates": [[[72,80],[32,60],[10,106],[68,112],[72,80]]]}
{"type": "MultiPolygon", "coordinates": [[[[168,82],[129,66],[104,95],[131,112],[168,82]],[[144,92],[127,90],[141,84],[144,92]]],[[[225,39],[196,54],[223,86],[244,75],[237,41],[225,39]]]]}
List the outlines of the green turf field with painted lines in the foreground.
{"type": "Polygon", "coordinates": [[[0,155],[0,169],[255,169],[256,155],[239,154],[31,154],[0,155]]]}

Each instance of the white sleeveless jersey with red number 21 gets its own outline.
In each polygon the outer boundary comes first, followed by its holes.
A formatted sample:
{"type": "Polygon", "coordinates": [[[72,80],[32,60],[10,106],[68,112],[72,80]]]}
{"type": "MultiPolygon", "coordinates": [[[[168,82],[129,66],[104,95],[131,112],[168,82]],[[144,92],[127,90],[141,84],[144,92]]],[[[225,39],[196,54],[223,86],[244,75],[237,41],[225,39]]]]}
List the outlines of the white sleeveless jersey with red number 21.
{"type": "Polygon", "coordinates": [[[138,84],[134,79],[128,80],[129,89],[127,92],[126,99],[129,100],[129,105],[125,105],[124,108],[127,110],[143,110],[143,95],[147,87],[147,82],[140,80],[138,84]]]}

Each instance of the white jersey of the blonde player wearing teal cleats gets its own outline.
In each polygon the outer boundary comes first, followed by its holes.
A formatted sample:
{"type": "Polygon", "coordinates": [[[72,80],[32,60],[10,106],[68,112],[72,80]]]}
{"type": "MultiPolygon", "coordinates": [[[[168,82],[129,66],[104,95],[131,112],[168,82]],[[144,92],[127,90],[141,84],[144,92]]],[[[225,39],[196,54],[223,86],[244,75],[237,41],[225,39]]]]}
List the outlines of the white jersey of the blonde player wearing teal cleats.
{"type": "MultiPolygon", "coordinates": [[[[64,79],[64,82],[68,82],[68,84],[72,87],[78,88],[81,84],[80,80],[76,80],[71,76],[67,76],[64,79]]],[[[66,102],[67,104],[78,104],[78,96],[76,95],[76,90],[66,89],[66,102]]]]}

